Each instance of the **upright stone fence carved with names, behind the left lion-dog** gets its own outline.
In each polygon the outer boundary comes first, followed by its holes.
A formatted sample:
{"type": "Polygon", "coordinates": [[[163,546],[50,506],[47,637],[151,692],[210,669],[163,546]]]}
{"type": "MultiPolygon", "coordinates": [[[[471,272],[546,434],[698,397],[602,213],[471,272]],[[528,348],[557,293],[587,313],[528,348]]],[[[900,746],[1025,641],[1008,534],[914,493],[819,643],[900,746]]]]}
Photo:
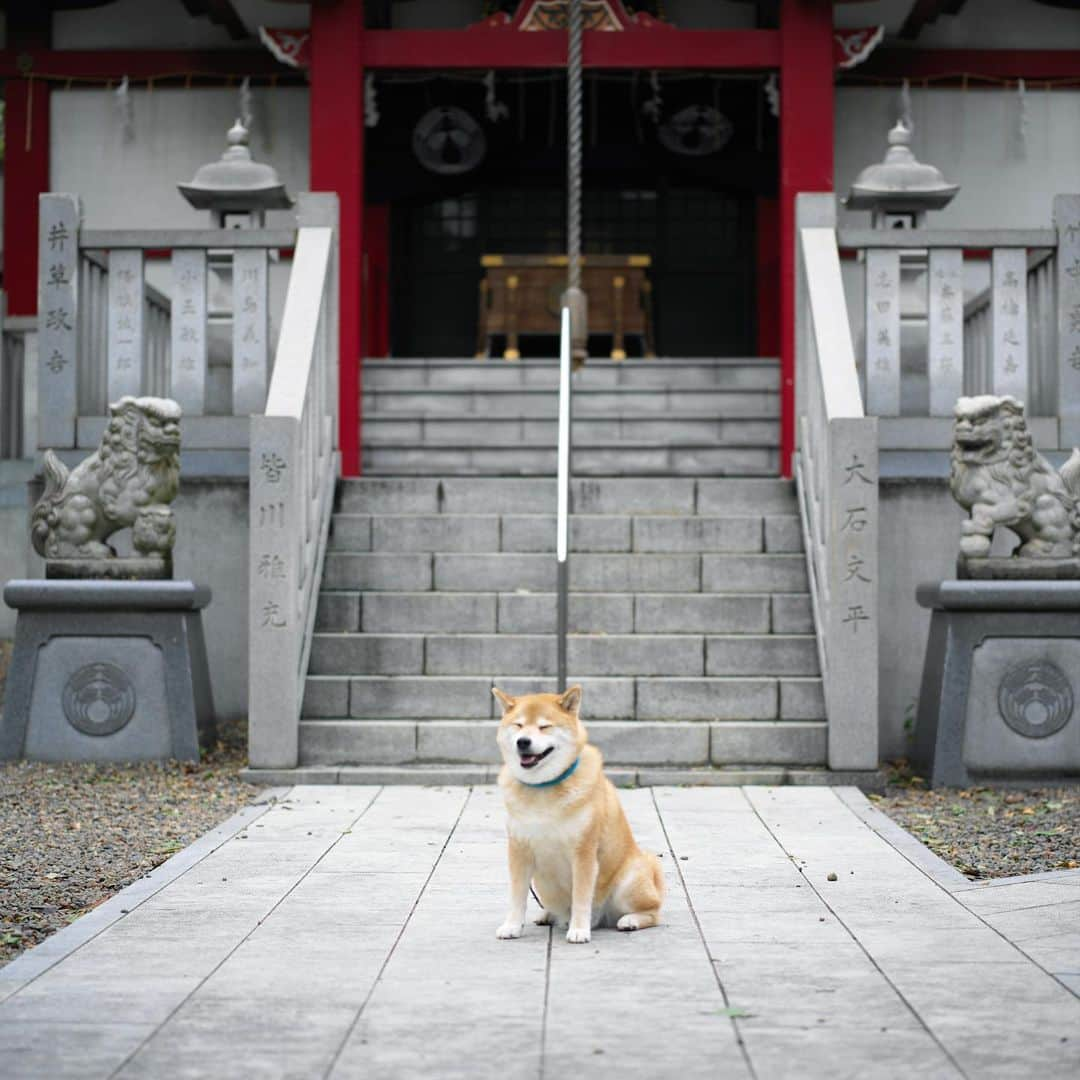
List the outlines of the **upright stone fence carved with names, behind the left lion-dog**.
{"type": "Polygon", "coordinates": [[[296,230],[86,229],[75,195],[40,206],[37,446],[93,449],[109,402],[154,394],[184,409],[187,475],[246,473],[243,418],[270,379],[269,267],[296,230]]]}

